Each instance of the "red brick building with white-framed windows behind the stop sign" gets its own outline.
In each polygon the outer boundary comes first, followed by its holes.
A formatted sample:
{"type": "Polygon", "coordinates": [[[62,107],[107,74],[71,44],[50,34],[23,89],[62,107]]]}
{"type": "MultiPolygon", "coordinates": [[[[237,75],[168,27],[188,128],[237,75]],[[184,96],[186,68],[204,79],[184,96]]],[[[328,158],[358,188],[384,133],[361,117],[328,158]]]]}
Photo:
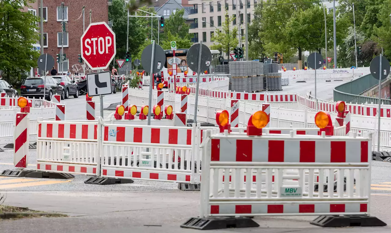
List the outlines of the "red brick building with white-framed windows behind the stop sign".
{"type": "MultiPolygon", "coordinates": [[[[39,1],[37,1],[39,2],[39,1]]],[[[80,38],[83,35],[83,15],[82,8],[85,6],[85,28],[90,23],[105,21],[108,23],[108,0],[44,0],[43,1],[43,33],[44,33],[44,53],[54,57],[56,62],[57,53],[61,49],[61,2],[64,2],[64,21],[66,21],[66,32],[63,34],[64,53],[66,60],[63,62],[63,74],[70,69],[72,73],[83,72],[83,68],[78,60],[80,51],[80,38]],[[81,16],[81,17],[80,17],[81,16]],[[80,17],[80,18],[79,18],[80,17]]],[[[38,14],[39,15],[39,12],[38,14]]],[[[59,64],[56,69],[60,72],[59,64]]],[[[88,67],[88,66],[87,66],[88,67]]],[[[48,68],[52,69],[51,67],[48,68]]],[[[87,68],[86,68],[87,69],[87,68]]],[[[87,71],[88,72],[88,71],[87,71]]]]}

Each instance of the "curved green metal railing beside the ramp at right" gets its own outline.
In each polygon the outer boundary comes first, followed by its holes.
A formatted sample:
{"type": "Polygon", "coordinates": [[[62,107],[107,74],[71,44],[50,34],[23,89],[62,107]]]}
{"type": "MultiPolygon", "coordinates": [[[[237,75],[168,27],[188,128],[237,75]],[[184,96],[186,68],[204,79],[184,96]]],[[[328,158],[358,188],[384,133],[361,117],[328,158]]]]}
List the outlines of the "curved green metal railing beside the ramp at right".
{"type": "MultiPolygon", "coordinates": [[[[386,82],[389,77],[383,82],[386,82]]],[[[364,75],[360,78],[352,80],[350,82],[341,84],[334,88],[334,101],[345,101],[346,103],[373,103],[378,104],[378,98],[360,96],[362,92],[365,92],[372,87],[379,84],[379,80],[373,78],[371,74],[364,75]]],[[[391,105],[391,100],[381,99],[382,104],[391,105]]]]}

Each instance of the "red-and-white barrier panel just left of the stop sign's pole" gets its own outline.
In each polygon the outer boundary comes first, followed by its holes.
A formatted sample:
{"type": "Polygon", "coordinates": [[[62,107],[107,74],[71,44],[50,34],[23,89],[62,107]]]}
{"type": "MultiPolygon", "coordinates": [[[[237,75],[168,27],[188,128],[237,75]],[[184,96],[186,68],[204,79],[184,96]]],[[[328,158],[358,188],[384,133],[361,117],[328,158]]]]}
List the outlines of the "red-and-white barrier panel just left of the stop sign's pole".
{"type": "Polygon", "coordinates": [[[38,121],[37,170],[99,176],[98,121],[38,121]]]}

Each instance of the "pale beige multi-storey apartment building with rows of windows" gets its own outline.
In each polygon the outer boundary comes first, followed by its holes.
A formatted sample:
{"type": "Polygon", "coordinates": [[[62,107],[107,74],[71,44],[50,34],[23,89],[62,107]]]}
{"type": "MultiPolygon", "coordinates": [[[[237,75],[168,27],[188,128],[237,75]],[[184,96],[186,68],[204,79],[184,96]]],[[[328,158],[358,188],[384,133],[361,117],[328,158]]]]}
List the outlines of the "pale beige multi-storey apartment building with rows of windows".
{"type": "MultiPolygon", "coordinates": [[[[215,31],[222,30],[226,12],[233,17],[230,28],[236,26],[242,37],[245,36],[244,7],[247,8],[248,24],[257,17],[253,14],[257,0],[190,0],[189,4],[193,4],[189,12],[189,19],[193,20],[189,29],[189,33],[194,34],[192,42],[203,41],[207,46],[213,44],[211,38],[215,31]]],[[[228,54],[224,54],[224,57],[228,57],[228,54]]]]}

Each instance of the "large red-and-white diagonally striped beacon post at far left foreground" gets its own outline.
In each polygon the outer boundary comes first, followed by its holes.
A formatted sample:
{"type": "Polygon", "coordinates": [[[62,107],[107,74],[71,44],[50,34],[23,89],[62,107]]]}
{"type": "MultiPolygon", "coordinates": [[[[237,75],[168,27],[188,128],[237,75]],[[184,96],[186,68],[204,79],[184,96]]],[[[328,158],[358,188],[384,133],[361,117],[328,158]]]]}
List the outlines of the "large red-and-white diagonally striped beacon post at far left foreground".
{"type": "Polygon", "coordinates": [[[29,153],[29,118],[27,113],[18,112],[16,114],[14,128],[14,166],[20,168],[27,167],[27,157],[29,153]]]}

